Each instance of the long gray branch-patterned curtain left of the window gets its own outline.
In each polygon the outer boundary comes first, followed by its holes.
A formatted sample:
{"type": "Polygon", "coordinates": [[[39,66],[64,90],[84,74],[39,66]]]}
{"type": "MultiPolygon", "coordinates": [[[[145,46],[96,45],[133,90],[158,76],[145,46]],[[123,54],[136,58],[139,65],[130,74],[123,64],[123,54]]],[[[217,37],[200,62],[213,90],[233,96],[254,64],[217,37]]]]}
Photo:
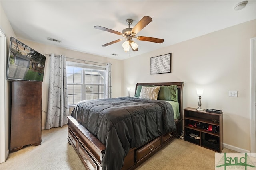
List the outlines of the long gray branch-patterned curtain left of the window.
{"type": "Polygon", "coordinates": [[[51,54],[46,129],[67,124],[68,115],[66,57],[51,54]]]}

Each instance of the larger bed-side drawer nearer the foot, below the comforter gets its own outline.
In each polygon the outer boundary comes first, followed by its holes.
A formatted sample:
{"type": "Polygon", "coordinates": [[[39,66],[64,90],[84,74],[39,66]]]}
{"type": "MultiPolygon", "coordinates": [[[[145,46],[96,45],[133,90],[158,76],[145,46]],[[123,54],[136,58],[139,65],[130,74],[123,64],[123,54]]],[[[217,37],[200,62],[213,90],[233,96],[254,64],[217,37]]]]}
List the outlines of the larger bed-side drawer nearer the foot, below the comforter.
{"type": "Polygon", "coordinates": [[[161,146],[161,136],[137,150],[137,162],[161,146]]]}

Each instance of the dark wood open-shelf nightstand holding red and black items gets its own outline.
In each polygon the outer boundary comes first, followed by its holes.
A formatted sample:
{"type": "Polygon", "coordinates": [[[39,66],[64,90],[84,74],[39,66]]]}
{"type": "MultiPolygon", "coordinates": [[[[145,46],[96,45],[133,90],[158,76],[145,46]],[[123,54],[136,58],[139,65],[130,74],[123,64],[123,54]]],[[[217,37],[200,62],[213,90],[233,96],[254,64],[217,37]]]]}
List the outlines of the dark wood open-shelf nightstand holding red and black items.
{"type": "Polygon", "coordinates": [[[216,152],[223,149],[222,113],[184,109],[184,140],[216,152]],[[194,137],[192,137],[194,135],[194,137]],[[196,137],[195,137],[196,136],[196,137]]]}

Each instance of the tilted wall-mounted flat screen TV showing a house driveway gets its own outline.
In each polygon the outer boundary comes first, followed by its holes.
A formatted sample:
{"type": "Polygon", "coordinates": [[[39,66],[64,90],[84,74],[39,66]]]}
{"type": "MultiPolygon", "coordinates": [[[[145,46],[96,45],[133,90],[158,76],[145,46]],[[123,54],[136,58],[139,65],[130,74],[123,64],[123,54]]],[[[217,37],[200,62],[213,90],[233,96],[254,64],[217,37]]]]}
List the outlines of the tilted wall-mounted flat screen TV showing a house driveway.
{"type": "Polygon", "coordinates": [[[7,79],[43,81],[45,60],[44,55],[11,37],[7,79]]]}

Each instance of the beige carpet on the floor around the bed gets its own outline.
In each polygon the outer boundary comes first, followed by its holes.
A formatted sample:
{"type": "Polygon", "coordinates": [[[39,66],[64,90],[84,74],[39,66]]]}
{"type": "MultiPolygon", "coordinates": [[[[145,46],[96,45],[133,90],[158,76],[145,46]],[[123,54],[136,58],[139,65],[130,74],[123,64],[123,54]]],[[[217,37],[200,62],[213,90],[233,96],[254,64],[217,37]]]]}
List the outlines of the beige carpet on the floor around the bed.
{"type": "MultiPolygon", "coordinates": [[[[75,150],[68,144],[67,126],[42,131],[39,146],[10,153],[0,170],[84,170],[75,150]]],[[[222,152],[234,152],[224,149],[222,152]]],[[[181,139],[157,152],[136,170],[214,170],[214,151],[181,139]]]]}

